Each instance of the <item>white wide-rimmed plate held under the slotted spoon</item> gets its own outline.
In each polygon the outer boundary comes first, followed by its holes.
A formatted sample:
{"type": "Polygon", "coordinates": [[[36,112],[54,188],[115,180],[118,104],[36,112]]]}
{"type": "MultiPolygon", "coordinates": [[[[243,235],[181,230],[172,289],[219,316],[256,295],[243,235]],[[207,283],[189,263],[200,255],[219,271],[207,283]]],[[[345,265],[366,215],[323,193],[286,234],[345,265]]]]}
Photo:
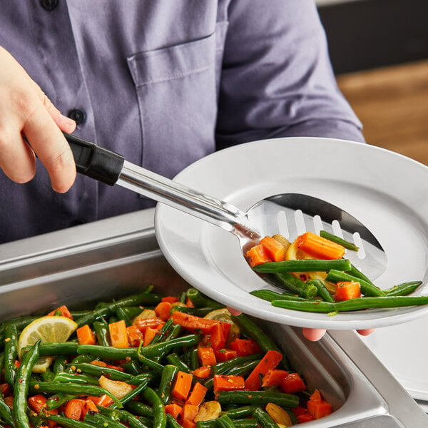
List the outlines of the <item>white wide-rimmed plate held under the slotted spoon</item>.
{"type": "MultiPolygon", "coordinates": [[[[417,294],[428,294],[428,168],[421,163],[350,141],[275,138],[213,153],[175,180],[241,210],[279,193],[327,200],[365,224],[384,248],[388,268],[375,281],[379,287],[422,280],[417,294]]],[[[165,258],[186,281],[255,317],[347,330],[394,325],[428,312],[419,306],[329,316],[273,307],[249,294],[271,287],[248,267],[234,235],[161,203],[155,227],[165,258]]]]}

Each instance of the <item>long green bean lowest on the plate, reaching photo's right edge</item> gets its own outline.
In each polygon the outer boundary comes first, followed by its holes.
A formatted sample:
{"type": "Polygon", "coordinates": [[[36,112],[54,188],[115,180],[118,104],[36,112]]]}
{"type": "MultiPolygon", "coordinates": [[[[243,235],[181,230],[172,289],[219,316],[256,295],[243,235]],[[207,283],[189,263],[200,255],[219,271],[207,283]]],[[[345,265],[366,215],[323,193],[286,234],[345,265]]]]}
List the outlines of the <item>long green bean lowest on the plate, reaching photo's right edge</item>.
{"type": "Polygon", "coordinates": [[[291,300],[273,300],[272,305],[285,309],[302,310],[305,312],[347,312],[370,308],[405,307],[427,305],[428,296],[387,296],[357,297],[343,302],[292,302],[291,300]]]}

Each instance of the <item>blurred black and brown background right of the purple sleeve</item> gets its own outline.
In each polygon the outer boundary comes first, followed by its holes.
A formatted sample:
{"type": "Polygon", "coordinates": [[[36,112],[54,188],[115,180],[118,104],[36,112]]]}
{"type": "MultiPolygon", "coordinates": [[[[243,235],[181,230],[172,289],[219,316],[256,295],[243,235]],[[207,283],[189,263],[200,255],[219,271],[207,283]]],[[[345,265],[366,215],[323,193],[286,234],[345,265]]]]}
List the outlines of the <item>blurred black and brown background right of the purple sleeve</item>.
{"type": "Polygon", "coordinates": [[[428,0],[316,0],[368,143],[428,165],[428,0]]]}

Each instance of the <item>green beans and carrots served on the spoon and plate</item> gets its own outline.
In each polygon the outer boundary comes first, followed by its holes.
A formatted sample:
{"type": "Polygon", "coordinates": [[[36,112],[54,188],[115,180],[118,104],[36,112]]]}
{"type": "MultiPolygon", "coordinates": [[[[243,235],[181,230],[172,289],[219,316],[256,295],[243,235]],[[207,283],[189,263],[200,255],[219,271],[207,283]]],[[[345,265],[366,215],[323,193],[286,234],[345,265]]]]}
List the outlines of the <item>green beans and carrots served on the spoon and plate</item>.
{"type": "Polygon", "coordinates": [[[428,296],[410,296],[422,281],[381,290],[345,258],[347,250],[359,248],[325,230],[320,235],[306,232],[292,243],[282,235],[266,236],[245,258],[255,272],[269,275],[285,292],[255,290],[251,294],[273,306],[329,315],[428,303],[428,296]]]}

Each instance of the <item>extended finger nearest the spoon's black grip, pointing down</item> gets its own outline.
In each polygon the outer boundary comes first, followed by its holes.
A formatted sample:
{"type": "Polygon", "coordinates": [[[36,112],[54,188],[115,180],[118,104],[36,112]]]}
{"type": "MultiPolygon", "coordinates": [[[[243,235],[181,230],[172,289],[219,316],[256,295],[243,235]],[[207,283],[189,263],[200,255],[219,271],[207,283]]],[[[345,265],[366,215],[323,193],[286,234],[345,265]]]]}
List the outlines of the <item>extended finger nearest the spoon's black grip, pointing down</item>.
{"type": "Polygon", "coordinates": [[[23,131],[48,170],[52,188],[58,193],[66,192],[76,179],[76,163],[70,146],[44,106],[34,108],[23,131]]]}

